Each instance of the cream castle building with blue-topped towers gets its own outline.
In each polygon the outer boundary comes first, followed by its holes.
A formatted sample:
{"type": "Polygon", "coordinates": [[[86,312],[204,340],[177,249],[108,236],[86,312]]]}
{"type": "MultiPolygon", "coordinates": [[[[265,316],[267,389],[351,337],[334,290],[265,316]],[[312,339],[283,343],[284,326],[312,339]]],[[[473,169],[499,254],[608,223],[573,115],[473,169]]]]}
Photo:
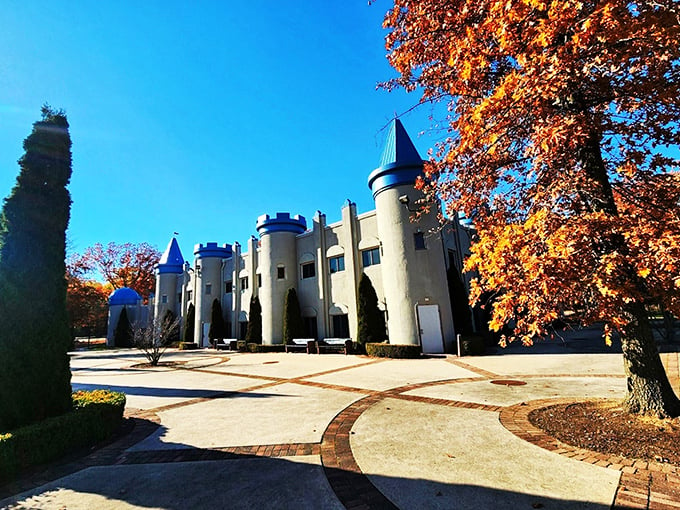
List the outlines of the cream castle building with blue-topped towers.
{"type": "MultiPolygon", "coordinates": [[[[257,219],[259,238],[242,247],[197,244],[194,263],[184,261],[172,239],[156,270],[154,315],[171,310],[185,318],[195,307],[195,341],[209,345],[212,302],[222,305],[227,336],[244,338],[251,297],[262,305],[265,344],[283,341],[284,299],[295,288],[306,336],[356,339],[362,273],[370,278],[393,344],[421,344],[423,352],[453,352],[455,330],[446,271],[459,270],[469,230],[458,222],[445,229],[436,211],[411,221],[422,197],[414,188],[423,160],[395,119],[380,166],[368,177],[375,210],[357,213],[347,201],[342,219],[326,223],[317,211],[308,225],[286,212],[257,219]]],[[[436,208],[433,208],[436,209],[436,208]]],[[[466,305],[463,305],[466,306],[466,305]]]]}

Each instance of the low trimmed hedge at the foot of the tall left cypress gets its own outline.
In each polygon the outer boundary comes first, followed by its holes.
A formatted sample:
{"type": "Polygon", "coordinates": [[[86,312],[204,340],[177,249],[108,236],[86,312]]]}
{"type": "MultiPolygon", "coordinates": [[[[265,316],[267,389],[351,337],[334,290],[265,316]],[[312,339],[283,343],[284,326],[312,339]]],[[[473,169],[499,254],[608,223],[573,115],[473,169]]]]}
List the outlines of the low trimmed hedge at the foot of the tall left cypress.
{"type": "Polygon", "coordinates": [[[77,391],[73,410],[0,434],[0,482],[29,466],[44,464],[110,437],[123,420],[125,394],[77,391]]]}

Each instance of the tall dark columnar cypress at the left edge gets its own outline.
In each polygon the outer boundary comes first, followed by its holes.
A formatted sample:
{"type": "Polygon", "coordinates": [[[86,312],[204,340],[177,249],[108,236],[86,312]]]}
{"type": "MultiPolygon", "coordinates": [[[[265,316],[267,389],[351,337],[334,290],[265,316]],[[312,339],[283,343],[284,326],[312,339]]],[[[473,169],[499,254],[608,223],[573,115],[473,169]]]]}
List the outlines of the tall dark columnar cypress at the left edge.
{"type": "Polygon", "coordinates": [[[71,408],[68,128],[64,112],[43,106],[0,215],[0,432],[71,408]]]}

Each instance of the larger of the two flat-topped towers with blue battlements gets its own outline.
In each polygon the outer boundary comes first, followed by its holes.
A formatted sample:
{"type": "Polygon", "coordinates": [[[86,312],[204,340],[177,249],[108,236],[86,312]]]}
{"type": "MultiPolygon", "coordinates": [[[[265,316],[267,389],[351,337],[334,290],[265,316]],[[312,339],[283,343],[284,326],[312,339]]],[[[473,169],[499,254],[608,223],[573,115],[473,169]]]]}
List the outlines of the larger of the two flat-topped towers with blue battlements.
{"type": "MultiPolygon", "coordinates": [[[[286,292],[297,287],[298,264],[295,236],[307,230],[303,216],[289,213],[268,214],[257,219],[260,234],[259,274],[262,285],[258,295],[262,305],[262,342],[283,341],[283,303],[286,292]]],[[[253,282],[257,285],[258,282],[253,282]]]]}

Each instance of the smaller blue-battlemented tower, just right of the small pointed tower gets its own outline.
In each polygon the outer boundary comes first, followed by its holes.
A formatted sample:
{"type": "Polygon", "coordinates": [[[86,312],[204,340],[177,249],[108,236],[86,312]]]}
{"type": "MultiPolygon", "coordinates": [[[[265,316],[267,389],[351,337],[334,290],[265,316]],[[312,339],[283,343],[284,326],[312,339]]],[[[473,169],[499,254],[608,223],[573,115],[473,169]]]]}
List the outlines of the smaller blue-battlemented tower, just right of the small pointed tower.
{"type": "Polygon", "coordinates": [[[231,258],[231,245],[218,246],[217,243],[207,243],[205,246],[194,246],[194,307],[196,319],[194,323],[194,338],[199,347],[210,345],[208,328],[210,327],[210,312],[215,299],[222,301],[222,261],[231,258]]]}

